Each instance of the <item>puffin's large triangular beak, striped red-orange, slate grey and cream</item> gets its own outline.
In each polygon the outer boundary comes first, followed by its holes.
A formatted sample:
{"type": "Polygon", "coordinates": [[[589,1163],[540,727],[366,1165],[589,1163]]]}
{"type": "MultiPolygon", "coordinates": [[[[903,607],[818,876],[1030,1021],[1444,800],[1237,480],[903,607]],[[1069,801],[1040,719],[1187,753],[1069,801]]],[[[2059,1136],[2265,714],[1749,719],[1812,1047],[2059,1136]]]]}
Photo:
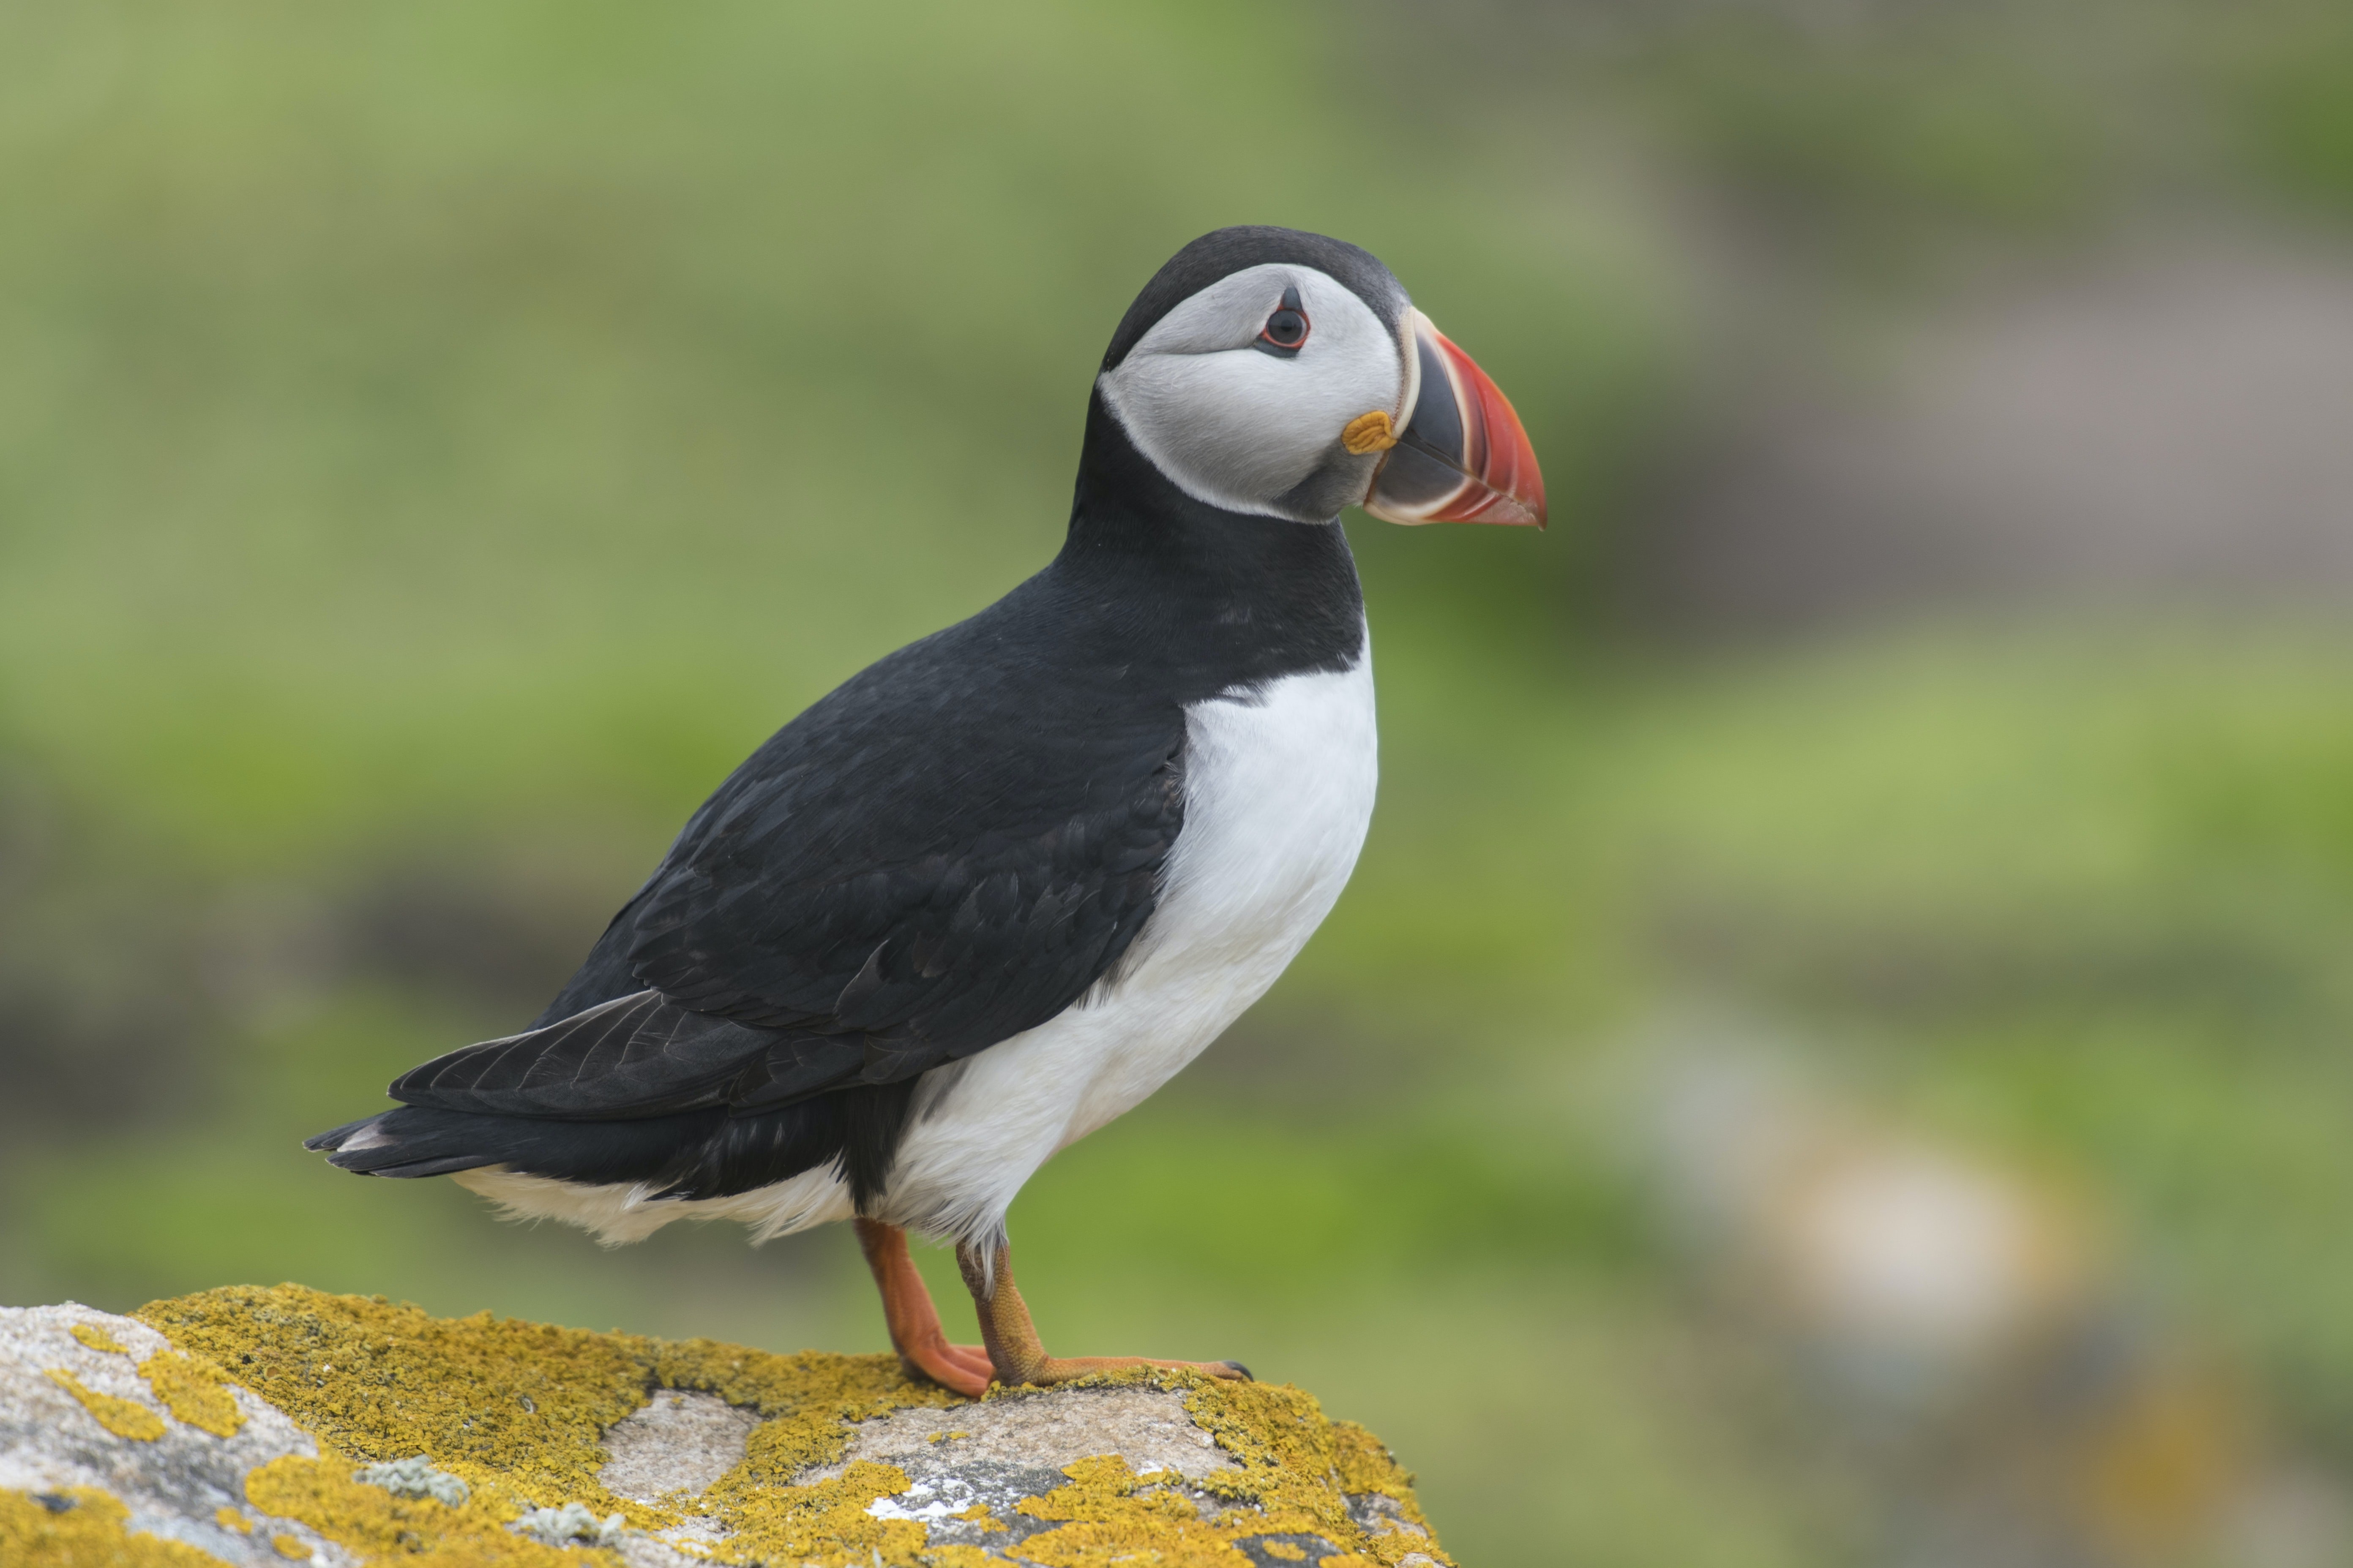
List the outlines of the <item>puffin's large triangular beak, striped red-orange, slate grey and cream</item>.
{"type": "Polygon", "coordinates": [[[1405,416],[1348,425],[1351,451],[1388,437],[1365,510],[1384,522],[1506,522],[1544,527],[1544,475],[1511,400],[1431,317],[1407,310],[1412,357],[1405,416]]]}

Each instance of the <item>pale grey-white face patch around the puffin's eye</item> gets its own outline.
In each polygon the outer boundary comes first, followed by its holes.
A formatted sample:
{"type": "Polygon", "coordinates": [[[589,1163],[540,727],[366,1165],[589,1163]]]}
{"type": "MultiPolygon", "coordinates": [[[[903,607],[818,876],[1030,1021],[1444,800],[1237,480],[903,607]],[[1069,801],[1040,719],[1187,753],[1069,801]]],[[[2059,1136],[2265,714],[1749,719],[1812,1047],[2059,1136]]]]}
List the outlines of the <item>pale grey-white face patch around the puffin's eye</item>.
{"type": "Polygon", "coordinates": [[[1374,409],[1402,425],[1412,367],[1334,277],[1266,263],[1162,315],[1096,386],[1136,449],[1195,501],[1325,522],[1365,498],[1377,465],[1351,456],[1341,430],[1374,409]],[[1299,289],[1308,317],[1294,355],[1259,341],[1285,289],[1299,289]]]}

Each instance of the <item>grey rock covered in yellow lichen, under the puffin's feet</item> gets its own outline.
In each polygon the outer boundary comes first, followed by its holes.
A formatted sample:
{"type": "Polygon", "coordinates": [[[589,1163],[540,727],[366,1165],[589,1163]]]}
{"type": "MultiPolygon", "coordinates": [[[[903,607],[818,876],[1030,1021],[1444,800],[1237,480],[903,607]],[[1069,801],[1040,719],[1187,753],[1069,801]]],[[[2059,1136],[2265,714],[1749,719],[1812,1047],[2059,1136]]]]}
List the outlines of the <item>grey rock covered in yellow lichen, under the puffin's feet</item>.
{"type": "Polygon", "coordinates": [[[0,1309],[0,1563],[1438,1568],[1280,1385],[967,1401],[892,1356],[433,1319],[301,1286],[0,1309]]]}

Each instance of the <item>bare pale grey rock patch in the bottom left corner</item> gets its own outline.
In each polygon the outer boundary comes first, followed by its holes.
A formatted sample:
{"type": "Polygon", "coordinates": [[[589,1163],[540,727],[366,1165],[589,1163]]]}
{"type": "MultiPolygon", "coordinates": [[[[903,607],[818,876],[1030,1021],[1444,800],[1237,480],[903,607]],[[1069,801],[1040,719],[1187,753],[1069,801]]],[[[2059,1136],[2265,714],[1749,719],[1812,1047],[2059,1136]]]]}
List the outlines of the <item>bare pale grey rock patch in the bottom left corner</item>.
{"type": "Polygon", "coordinates": [[[240,1568],[285,1568],[278,1537],[311,1547],[322,1568],[351,1563],[351,1554],[306,1526],[268,1519],[245,1502],[245,1476],[256,1465],[289,1453],[318,1458],[311,1434],[247,1389],[231,1389],[245,1413],[235,1436],[172,1420],[139,1375],[139,1363],[160,1349],[169,1345],[146,1324],[75,1302],[0,1307],[0,1488],[52,1497],[75,1486],[113,1493],[129,1509],[127,1530],[179,1540],[240,1568]],[[104,1331],[127,1354],[82,1345],[75,1324],[104,1331]],[[155,1413],[162,1436],[108,1432],[52,1371],[155,1413]],[[219,1509],[238,1509],[256,1528],[224,1528],[219,1509]]]}

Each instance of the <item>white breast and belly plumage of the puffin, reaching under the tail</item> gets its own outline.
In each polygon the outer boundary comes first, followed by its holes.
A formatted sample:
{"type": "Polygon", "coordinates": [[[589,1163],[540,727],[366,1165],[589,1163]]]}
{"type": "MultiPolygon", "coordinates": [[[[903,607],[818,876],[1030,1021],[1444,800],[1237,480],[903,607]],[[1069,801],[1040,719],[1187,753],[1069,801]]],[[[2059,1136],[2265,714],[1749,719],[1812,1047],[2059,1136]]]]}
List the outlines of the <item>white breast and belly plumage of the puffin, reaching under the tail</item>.
{"type": "MultiPolygon", "coordinates": [[[[1372,646],[1355,668],[1292,675],[1186,710],[1184,832],[1160,905],[1120,966],[1056,1018],[927,1072],[878,1218],[988,1241],[1054,1150],[1132,1110],[1200,1056],[1332,912],[1372,823],[1372,646]]],[[[466,1171],[511,1215],[638,1241],[671,1220],[744,1220],[758,1239],[849,1218],[831,1166],[725,1199],[649,1199],[466,1171]]]]}

